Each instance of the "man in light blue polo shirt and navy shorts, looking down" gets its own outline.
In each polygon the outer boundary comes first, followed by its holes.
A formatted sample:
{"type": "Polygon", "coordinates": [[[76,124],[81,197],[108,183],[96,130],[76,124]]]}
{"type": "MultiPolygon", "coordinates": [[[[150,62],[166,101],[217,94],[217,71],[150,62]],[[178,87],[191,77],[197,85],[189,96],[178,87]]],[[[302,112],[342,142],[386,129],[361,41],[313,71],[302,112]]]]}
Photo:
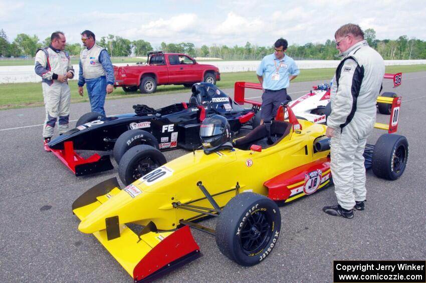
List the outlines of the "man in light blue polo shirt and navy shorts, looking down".
{"type": "Polygon", "coordinates": [[[287,88],[300,73],[294,60],[285,54],[287,41],[281,38],[274,46],[274,54],[265,56],[256,72],[263,89],[261,124],[269,124],[280,104],[286,99],[291,100],[287,88]]]}

